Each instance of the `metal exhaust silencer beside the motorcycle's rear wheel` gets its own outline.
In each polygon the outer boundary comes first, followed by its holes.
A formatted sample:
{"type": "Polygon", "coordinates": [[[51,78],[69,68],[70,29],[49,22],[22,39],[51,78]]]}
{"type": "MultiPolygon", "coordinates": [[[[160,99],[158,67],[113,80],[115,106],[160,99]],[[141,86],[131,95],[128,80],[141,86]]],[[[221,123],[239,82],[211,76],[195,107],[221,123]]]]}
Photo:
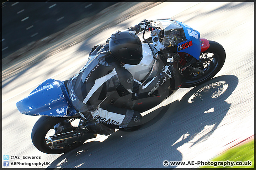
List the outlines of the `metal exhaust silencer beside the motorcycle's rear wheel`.
{"type": "Polygon", "coordinates": [[[73,130],[71,132],[49,136],[46,145],[53,149],[56,147],[64,147],[75,142],[82,142],[84,140],[95,138],[96,136],[97,134],[88,131],[73,130]]]}

